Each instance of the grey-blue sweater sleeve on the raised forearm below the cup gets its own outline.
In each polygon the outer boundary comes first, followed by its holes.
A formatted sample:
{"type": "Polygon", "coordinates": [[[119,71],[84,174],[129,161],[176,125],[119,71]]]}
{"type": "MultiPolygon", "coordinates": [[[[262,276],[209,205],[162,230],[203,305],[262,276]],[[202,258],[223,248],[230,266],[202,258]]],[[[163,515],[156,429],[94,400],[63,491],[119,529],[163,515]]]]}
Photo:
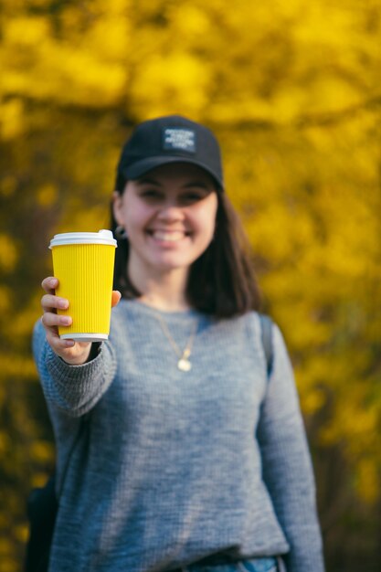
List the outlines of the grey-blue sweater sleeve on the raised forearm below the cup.
{"type": "Polygon", "coordinates": [[[109,342],[101,343],[99,354],[89,363],[69,365],[53,352],[40,322],[33,333],[33,353],[48,404],[70,417],[88,413],[110,386],[116,372],[116,359],[109,342]]]}

